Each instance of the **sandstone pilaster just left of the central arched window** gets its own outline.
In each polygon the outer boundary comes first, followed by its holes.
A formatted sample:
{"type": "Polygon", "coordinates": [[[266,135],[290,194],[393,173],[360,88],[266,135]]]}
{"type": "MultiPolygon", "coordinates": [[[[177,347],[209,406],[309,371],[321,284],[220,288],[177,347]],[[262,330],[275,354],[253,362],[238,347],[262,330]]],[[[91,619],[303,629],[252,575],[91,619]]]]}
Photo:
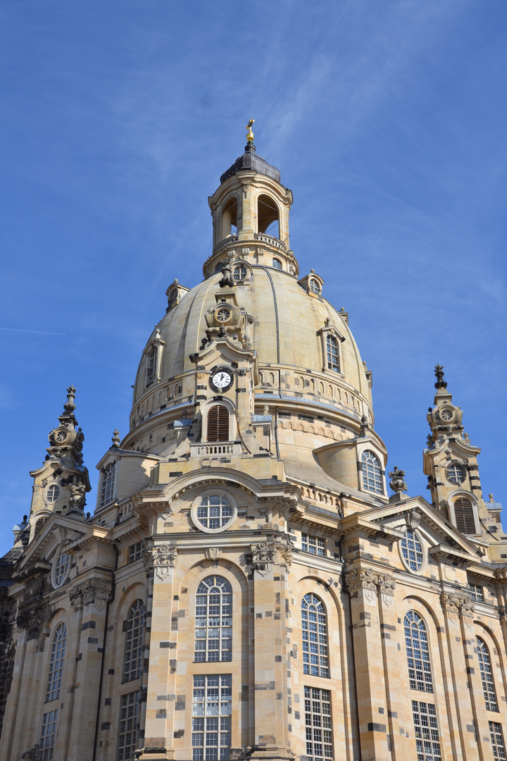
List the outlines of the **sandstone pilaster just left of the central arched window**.
{"type": "Polygon", "coordinates": [[[185,729],[185,696],[179,701],[176,697],[174,658],[179,618],[178,603],[173,601],[173,569],[177,555],[176,547],[165,543],[148,550],[147,567],[153,565],[153,597],[144,742],[139,743],[144,747],[140,761],[174,759],[173,737],[175,732],[185,729]]]}

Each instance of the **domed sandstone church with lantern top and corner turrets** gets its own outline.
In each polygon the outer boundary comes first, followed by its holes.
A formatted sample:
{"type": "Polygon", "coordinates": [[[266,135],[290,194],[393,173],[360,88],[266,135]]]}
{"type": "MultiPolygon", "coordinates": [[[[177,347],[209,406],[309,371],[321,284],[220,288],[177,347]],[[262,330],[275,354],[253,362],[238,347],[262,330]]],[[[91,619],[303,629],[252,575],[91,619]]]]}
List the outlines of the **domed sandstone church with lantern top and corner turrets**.
{"type": "Polygon", "coordinates": [[[372,372],[247,139],[93,514],[74,387],[30,474],[0,561],[0,759],[505,759],[507,537],[480,449],[437,365],[429,492],[386,476],[372,372]]]}

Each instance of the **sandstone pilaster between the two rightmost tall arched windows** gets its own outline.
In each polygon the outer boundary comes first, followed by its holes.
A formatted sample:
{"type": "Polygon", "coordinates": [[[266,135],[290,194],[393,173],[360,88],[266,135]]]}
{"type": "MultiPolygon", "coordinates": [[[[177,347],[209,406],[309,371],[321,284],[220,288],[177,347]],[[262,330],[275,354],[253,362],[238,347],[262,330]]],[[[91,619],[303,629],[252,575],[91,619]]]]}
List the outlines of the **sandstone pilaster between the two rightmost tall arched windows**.
{"type": "Polygon", "coordinates": [[[477,761],[479,755],[475,728],[472,724],[473,714],[468,692],[467,667],[464,663],[463,646],[461,645],[459,623],[461,598],[452,592],[442,591],[440,602],[444,611],[450,667],[450,673],[448,673],[447,678],[444,674],[444,680],[447,684],[446,709],[452,752],[456,757],[463,755],[467,761],[477,761]],[[448,689],[451,684],[452,693],[448,689]]]}

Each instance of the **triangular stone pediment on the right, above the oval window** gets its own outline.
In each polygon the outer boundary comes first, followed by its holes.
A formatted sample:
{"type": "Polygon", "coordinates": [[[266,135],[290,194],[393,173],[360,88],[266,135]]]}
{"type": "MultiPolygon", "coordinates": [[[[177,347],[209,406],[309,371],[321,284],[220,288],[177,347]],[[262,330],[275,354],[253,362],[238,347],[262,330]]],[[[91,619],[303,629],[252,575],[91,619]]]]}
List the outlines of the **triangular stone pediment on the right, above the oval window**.
{"type": "MultiPolygon", "coordinates": [[[[431,555],[445,557],[460,565],[477,562],[477,557],[481,556],[480,549],[422,497],[389,502],[360,513],[360,517],[369,524],[371,532],[377,527],[379,534],[401,535],[406,527],[417,527],[428,542],[431,555]]],[[[342,521],[343,524],[346,522],[347,518],[342,521]]]]}

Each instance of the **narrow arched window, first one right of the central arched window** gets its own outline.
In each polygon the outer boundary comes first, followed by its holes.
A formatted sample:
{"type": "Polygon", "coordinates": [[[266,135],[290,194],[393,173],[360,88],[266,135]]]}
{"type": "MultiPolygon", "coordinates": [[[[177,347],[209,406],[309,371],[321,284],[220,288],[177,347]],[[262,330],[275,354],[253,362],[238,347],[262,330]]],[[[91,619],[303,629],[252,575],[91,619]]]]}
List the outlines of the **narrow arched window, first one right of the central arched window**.
{"type": "Polygon", "coordinates": [[[301,601],[303,671],[314,677],[329,676],[328,626],[322,600],[309,592],[301,601]]]}

